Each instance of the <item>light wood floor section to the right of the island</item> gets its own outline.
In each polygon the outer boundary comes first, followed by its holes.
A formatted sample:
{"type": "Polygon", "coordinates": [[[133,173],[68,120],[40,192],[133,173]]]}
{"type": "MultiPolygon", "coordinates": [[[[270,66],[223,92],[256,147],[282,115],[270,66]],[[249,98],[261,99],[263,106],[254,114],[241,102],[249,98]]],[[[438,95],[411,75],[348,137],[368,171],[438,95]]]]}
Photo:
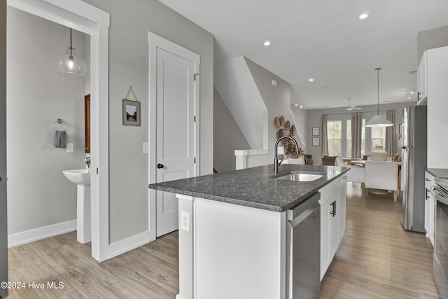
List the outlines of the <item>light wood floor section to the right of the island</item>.
{"type": "Polygon", "coordinates": [[[321,282],[322,298],[440,298],[433,247],[404,230],[393,194],[369,195],[347,183],[344,240],[321,282]]]}

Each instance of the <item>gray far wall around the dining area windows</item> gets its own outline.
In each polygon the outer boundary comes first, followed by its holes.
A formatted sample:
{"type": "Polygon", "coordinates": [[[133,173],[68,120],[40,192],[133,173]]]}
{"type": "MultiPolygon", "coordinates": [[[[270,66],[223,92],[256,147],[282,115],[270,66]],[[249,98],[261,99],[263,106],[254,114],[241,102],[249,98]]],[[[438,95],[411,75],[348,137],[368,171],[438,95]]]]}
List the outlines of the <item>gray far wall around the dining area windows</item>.
{"type": "MultiPolygon", "coordinates": [[[[395,122],[397,125],[395,125],[395,132],[398,137],[398,124],[401,123],[402,119],[402,109],[404,109],[406,106],[412,106],[415,105],[416,102],[403,102],[403,103],[396,103],[396,104],[380,104],[379,105],[379,111],[381,115],[386,116],[386,110],[395,110],[395,122]]],[[[359,110],[360,113],[363,113],[363,116],[365,117],[365,121],[370,120],[372,116],[377,114],[377,105],[372,106],[362,106],[362,110],[359,110]]],[[[358,112],[358,111],[356,111],[358,112]]],[[[313,155],[313,161],[316,164],[321,164],[321,145],[322,145],[322,128],[321,128],[321,122],[322,122],[322,115],[327,114],[328,120],[348,120],[351,119],[351,113],[350,111],[344,111],[344,110],[332,110],[332,109],[316,109],[316,110],[307,110],[307,151],[305,153],[313,155]],[[312,127],[319,127],[320,129],[320,135],[319,137],[319,144],[320,146],[312,146],[312,137],[311,136],[311,130],[312,127]]],[[[344,128],[343,128],[344,130],[344,128]]],[[[366,128],[366,130],[370,130],[366,128]]],[[[344,131],[343,131],[344,133],[344,131]]],[[[367,138],[367,137],[366,137],[367,138]]],[[[398,139],[397,139],[398,144],[398,139]]],[[[365,151],[367,154],[370,153],[370,148],[365,148],[365,151]]],[[[344,155],[344,154],[343,154],[344,155]]]]}

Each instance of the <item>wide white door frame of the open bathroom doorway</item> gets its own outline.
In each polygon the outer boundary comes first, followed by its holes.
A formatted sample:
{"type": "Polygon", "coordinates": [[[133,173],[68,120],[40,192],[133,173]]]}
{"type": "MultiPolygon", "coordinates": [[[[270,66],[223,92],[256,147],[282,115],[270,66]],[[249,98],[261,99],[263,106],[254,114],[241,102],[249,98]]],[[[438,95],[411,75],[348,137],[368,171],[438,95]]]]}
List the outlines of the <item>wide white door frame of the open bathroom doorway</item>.
{"type": "Polygon", "coordinates": [[[101,262],[109,258],[110,15],[81,0],[7,0],[7,4],[90,35],[92,257],[101,262]]]}

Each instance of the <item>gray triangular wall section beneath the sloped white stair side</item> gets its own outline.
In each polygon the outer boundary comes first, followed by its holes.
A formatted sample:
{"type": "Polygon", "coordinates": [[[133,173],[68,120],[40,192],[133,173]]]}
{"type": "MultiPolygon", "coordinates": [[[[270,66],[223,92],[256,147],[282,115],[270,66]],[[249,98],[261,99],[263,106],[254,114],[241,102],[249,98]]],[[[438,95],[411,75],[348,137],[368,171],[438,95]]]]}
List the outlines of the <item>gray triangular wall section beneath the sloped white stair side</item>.
{"type": "Polygon", "coordinates": [[[248,149],[251,146],[239,130],[235,119],[216,88],[214,89],[213,123],[214,167],[218,172],[235,170],[235,150],[248,149]]]}

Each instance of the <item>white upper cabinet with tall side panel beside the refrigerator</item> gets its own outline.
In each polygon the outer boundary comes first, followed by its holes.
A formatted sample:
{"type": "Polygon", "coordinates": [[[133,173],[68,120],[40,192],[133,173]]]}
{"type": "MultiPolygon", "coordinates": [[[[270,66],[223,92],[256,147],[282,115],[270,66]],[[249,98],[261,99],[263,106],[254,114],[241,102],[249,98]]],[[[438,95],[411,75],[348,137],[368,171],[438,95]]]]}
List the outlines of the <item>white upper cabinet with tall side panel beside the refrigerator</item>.
{"type": "Polygon", "coordinates": [[[426,50],[419,67],[419,103],[428,105],[428,168],[448,168],[448,46],[426,50]]]}

